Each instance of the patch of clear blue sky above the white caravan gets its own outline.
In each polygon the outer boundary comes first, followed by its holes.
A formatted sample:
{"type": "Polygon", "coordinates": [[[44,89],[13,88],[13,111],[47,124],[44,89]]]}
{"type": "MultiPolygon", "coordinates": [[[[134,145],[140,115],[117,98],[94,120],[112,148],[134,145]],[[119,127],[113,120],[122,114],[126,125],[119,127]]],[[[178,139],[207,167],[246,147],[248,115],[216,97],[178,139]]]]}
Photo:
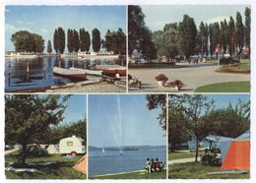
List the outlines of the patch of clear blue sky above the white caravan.
{"type": "Polygon", "coordinates": [[[59,124],[70,124],[87,117],[87,95],[73,94],[67,101],[67,108],[64,112],[64,120],[59,124]]]}

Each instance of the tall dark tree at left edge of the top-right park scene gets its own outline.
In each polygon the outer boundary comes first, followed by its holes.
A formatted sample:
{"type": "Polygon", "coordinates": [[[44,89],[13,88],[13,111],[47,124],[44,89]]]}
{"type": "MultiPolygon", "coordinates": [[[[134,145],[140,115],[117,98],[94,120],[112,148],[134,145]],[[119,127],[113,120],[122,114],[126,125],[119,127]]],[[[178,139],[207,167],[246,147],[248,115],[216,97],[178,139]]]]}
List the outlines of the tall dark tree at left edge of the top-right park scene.
{"type": "Polygon", "coordinates": [[[146,27],[145,15],[140,6],[128,6],[128,54],[137,50],[146,59],[157,57],[157,48],[152,40],[152,32],[146,27]]]}

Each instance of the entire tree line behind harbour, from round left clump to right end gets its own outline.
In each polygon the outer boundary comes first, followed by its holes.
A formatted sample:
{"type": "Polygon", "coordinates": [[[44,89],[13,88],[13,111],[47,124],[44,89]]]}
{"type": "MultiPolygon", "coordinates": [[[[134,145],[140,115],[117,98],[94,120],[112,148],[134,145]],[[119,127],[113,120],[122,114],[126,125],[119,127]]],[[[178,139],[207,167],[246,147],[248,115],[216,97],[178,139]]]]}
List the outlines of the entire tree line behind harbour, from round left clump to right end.
{"type": "MultiPolygon", "coordinates": [[[[15,50],[19,52],[41,53],[44,50],[44,39],[41,35],[27,30],[17,31],[11,38],[15,50]]],[[[89,52],[92,43],[94,52],[100,48],[107,51],[113,51],[114,54],[126,54],[126,35],[123,30],[107,30],[104,39],[100,37],[100,31],[94,29],[92,38],[89,31],[84,28],[78,30],[68,29],[67,34],[63,28],[59,27],[53,33],[53,45],[50,40],[47,41],[47,53],[52,53],[53,49],[57,54],[63,54],[67,46],[69,53],[89,52]]]]}

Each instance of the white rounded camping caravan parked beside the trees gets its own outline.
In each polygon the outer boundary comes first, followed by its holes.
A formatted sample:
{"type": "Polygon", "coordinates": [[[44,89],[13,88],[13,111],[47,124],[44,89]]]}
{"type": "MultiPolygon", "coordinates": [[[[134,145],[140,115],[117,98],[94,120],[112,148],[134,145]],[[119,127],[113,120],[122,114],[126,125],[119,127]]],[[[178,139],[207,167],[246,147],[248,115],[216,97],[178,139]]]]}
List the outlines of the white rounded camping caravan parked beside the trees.
{"type": "Polygon", "coordinates": [[[62,139],[59,142],[59,152],[62,154],[85,153],[85,141],[76,136],[62,139]]]}

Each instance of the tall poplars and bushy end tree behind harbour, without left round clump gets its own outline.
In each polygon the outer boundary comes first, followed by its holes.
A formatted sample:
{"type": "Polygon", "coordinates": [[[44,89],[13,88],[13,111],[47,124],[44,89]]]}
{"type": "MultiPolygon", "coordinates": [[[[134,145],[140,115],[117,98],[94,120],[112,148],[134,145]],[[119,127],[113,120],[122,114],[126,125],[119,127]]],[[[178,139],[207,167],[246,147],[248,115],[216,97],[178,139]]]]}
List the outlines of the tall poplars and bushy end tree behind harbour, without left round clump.
{"type": "MultiPolygon", "coordinates": [[[[100,31],[94,29],[92,31],[92,47],[94,52],[98,52],[100,48],[105,48],[107,51],[113,51],[114,54],[126,54],[126,35],[121,30],[107,30],[105,39],[101,39],[100,31]]],[[[54,50],[58,54],[63,54],[65,51],[65,31],[58,28],[54,31],[53,45],[54,50]]],[[[50,41],[49,41],[50,42],[50,41]]],[[[69,53],[89,52],[91,47],[91,35],[85,29],[67,30],[67,48],[69,53]]]]}

